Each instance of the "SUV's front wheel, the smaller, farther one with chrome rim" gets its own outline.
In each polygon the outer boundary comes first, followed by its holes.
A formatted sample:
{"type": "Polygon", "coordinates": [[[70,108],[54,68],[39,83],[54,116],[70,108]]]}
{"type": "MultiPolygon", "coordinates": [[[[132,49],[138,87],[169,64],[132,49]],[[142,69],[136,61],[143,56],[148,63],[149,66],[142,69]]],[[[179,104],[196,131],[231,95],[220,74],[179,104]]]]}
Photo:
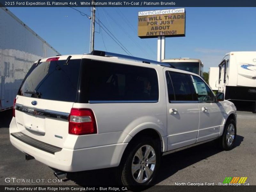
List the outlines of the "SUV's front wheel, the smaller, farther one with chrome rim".
{"type": "Polygon", "coordinates": [[[236,122],[229,119],[224,127],[223,134],[219,140],[220,148],[229,151],[234,148],[236,142],[236,122]]]}

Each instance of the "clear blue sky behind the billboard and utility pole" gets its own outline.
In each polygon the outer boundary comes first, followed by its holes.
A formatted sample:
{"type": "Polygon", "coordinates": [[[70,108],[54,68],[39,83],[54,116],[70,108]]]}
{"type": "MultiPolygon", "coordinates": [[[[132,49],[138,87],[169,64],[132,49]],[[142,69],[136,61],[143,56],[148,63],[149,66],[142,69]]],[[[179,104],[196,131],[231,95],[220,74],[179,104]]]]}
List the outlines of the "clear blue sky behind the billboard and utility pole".
{"type": "MultiPolygon", "coordinates": [[[[90,8],[76,8],[90,15],[90,8]]],[[[137,36],[138,12],[167,7],[96,7],[96,16],[132,53],[156,60],[157,38],[137,36]]],[[[186,9],[186,36],[168,37],[165,59],[198,58],[204,71],[217,67],[225,53],[256,51],[256,8],[203,7],[186,9]]],[[[88,53],[90,20],[68,7],[10,7],[20,20],[51,44],[61,54],[88,53]]],[[[95,50],[126,54],[96,24],[95,50]]]]}

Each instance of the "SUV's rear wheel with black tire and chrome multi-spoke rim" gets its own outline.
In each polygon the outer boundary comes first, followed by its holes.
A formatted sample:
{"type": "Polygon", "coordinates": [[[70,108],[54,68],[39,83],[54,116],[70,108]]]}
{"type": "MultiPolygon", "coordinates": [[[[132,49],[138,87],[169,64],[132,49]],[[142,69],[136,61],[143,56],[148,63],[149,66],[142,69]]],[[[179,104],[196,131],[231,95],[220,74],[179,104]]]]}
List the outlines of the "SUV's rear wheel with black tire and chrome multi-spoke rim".
{"type": "Polygon", "coordinates": [[[151,186],[160,165],[160,149],[159,140],[150,137],[132,140],[117,169],[121,184],[133,191],[151,186]]]}

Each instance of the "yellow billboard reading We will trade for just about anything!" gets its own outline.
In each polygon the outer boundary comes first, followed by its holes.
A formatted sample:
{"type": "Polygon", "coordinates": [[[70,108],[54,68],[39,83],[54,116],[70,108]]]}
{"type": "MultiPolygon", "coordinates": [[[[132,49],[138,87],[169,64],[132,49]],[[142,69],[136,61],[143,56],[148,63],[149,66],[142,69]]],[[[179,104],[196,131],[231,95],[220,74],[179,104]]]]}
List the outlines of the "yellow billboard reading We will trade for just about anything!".
{"type": "Polygon", "coordinates": [[[139,12],[138,36],[185,36],[185,9],[167,9],[139,12]]]}

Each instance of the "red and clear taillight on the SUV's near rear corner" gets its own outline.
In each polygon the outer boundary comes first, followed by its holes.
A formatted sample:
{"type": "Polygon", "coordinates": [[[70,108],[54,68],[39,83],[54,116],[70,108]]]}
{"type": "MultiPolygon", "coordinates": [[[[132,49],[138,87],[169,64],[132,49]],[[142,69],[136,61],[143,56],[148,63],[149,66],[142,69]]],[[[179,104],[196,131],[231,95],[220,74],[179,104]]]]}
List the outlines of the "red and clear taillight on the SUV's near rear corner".
{"type": "Polygon", "coordinates": [[[69,134],[85,135],[97,133],[96,121],[91,109],[72,108],[68,121],[69,134]]]}

